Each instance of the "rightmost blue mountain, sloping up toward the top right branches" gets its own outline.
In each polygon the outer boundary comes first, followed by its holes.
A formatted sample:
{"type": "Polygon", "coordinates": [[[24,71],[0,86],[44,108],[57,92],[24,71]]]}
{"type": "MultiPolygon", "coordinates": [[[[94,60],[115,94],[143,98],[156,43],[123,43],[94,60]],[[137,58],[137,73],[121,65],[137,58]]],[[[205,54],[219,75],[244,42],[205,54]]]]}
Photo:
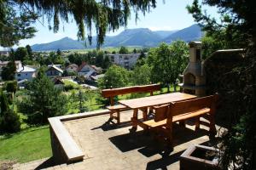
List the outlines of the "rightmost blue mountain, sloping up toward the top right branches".
{"type": "Polygon", "coordinates": [[[199,40],[202,37],[201,27],[198,25],[189,26],[180,31],[176,31],[169,37],[166,37],[163,41],[170,43],[177,39],[183,40],[185,42],[199,40]]]}

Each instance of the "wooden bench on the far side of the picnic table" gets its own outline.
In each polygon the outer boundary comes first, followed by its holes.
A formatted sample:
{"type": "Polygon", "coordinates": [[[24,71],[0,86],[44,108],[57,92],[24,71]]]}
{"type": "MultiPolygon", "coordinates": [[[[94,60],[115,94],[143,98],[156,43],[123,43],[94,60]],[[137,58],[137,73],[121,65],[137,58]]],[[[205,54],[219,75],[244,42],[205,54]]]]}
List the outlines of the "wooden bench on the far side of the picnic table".
{"type": "MultiPolygon", "coordinates": [[[[112,88],[102,90],[102,97],[108,98],[110,105],[107,107],[110,113],[110,119],[116,119],[117,123],[120,122],[120,111],[127,111],[128,108],[125,105],[114,105],[114,97],[122,94],[135,94],[135,93],[150,93],[153,95],[153,92],[160,91],[160,84],[150,84],[145,86],[133,86],[126,88],[112,88]],[[114,114],[116,113],[116,116],[114,114]]],[[[147,109],[147,108],[145,108],[147,109]]],[[[145,110],[142,109],[142,110],[145,110]]],[[[146,111],[143,111],[143,113],[146,111]]]]}

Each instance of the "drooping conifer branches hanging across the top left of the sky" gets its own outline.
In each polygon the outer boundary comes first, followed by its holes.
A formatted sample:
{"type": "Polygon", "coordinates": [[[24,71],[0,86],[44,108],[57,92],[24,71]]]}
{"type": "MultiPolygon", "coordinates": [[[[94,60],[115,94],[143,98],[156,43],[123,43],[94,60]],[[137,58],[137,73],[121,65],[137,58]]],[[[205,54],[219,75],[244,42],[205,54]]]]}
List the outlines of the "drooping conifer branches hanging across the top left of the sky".
{"type": "MultiPolygon", "coordinates": [[[[5,1],[1,1],[5,2],[5,1]]],[[[120,26],[126,26],[131,14],[131,10],[139,11],[145,14],[150,8],[155,8],[155,0],[146,1],[64,1],[54,0],[49,2],[43,1],[10,1],[7,3],[14,3],[11,7],[25,8],[26,14],[33,14],[37,11],[38,15],[44,15],[49,20],[49,28],[54,32],[59,30],[60,20],[69,22],[71,18],[76,22],[79,31],[77,33],[79,39],[84,40],[85,35],[88,34],[88,40],[92,40],[92,26],[96,26],[97,45],[104,42],[104,36],[107,31],[116,31],[120,26]],[[53,23],[53,26],[50,23],[53,23]],[[88,32],[85,32],[85,29],[88,32]]],[[[10,5],[9,4],[9,5],[10,5]]],[[[6,14],[4,8],[1,8],[3,14],[6,14]]]]}

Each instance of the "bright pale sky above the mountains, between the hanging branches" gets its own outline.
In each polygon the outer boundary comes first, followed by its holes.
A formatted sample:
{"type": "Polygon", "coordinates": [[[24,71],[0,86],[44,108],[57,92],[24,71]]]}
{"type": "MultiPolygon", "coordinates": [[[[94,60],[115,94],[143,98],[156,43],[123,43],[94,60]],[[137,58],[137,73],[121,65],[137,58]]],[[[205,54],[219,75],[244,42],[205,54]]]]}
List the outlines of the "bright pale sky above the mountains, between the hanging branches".
{"type": "MultiPolygon", "coordinates": [[[[186,6],[193,3],[193,0],[157,0],[156,8],[152,8],[145,16],[139,14],[139,20],[135,21],[135,14],[131,14],[128,21],[127,29],[132,28],[149,28],[152,31],[172,31],[189,27],[195,24],[191,14],[188,13],[186,6]]],[[[218,16],[216,8],[205,8],[208,14],[218,16]]],[[[63,37],[77,39],[78,28],[73,21],[72,23],[61,24],[57,33],[49,31],[47,21],[40,19],[35,23],[38,32],[31,39],[21,40],[19,46],[33,45],[36,43],[46,43],[59,40],[63,37]],[[44,26],[41,23],[44,24],[44,26]],[[64,29],[63,29],[64,28],[64,29]]],[[[113,36],[124,31],[122,27],[118,31],[108,32],[108,36],[113,36]]]]}

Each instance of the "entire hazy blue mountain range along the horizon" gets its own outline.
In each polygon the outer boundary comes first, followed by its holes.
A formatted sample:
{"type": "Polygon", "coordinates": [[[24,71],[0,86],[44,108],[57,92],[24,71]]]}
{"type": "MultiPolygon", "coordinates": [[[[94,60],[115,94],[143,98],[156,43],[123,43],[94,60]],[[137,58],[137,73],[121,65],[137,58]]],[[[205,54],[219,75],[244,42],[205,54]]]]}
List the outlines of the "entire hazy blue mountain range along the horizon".
{"type": "MultiPolygon", "coordinates": [[[[201,38],[201,28],[197,25],[189,26],[179,31],[151,31],[148,28],[127,29],[116,36],[106,36],[102,47],[142,46],[154,47],[160,42],[172,42],[176,39],[195,41],[201,38]]],[[[96,48],[96,37],[92,43],[86,42],[86,48],[96,48]]],[[[64,37],[55,42],[32,45],[33,51],[84,49],[84,42],[64,37]]]]}

